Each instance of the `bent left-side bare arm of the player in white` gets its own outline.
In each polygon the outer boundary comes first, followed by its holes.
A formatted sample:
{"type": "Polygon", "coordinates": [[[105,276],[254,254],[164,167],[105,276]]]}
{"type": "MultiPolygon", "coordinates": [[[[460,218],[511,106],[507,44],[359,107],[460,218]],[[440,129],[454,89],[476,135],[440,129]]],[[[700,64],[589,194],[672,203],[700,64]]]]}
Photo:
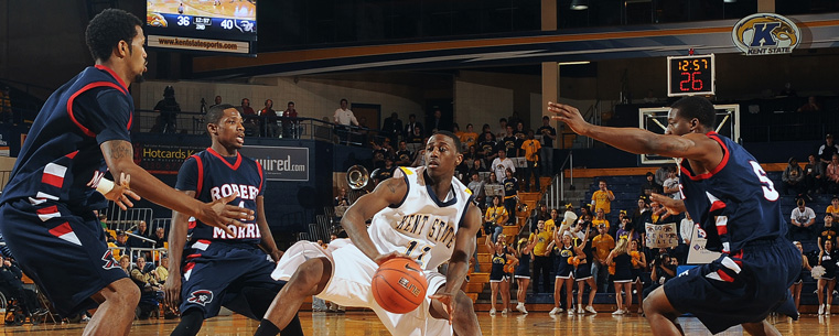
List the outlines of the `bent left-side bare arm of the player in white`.
{"type": "Polygon", "coordinates": [[[373,193],[358,197],[358,200],[347,208],[344,217],[341,218],[341,226],[346,230],[349,240],[353,241],[358,250],[378,264],[400,254],[396,251],[379,254],[378,249],[373,245],[370,235],[367,234],[365,221],[373,218],[373,215],[376,215],[376,213],[385,207],[402,202],[407,193],[408,185],[404,178],[391,177],[385,180],[376,186],[373,193]]]}

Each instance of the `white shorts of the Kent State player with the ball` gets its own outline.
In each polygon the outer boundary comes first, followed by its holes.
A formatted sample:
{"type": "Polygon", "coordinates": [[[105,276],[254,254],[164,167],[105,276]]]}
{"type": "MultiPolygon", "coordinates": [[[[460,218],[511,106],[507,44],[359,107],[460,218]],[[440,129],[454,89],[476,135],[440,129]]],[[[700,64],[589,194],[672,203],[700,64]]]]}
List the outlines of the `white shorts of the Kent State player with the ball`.
{"type": "MultiPolygon", "coordinates": [[[[338,239],[342,241],[344,239],[338,239]]],[[[428,295],[435,293],[445,284],[445,277],[435,271],[424,271],[428,281],[426,301],[420,306],[407,314],[394,314],[381,308],[373,299],[373,274],[378,270],[378,264],[358,250],[355,245],[346,239],[333,247],[330,243],[323,249],[311,241],[298,241],[291,246],[280,262],[277,263],[271,277],[275,280],[289,280],[294,271],[306,260],[313,258],[327,258],[332,264],[332,278],[319,299],[334,302],[343,306],[366,307],[378,315],[381,323],[391,335],[421,336],[421,335],[453,335],[448,319],[439,319],[431,316],[431,299],[428,295]],[[348,242],[348,243],[347,243],[348,242]]]]}

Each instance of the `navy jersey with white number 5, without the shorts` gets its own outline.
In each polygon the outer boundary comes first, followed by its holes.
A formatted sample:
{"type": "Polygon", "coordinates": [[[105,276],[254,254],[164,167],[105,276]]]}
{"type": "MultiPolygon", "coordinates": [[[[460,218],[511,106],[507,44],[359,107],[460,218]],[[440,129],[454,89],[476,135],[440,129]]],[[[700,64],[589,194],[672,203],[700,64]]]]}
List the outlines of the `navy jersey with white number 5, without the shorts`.
{"type": "Polygon", "coordinates": [[[707,136],[722,148],[720,164],[697,175],[682,160],[679,170],[685,206],[706,231],[706,248],[735,252],[750,240],[786,235],[778,192],[760,163],[731,139],[716,132],[707,136]]]}

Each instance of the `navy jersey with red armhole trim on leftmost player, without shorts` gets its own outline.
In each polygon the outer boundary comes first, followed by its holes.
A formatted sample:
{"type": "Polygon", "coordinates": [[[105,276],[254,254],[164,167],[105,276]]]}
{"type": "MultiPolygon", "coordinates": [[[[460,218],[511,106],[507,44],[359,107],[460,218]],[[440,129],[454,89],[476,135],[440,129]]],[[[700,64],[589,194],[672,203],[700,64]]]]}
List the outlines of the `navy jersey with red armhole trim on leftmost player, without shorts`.
{"type": "Polygon", "coordinates": [[[95,192],[107,171],[99,144],[131,141],[133,100],[108,67],[87,67],[46,100],[23,142],[0,204],[60,202],[74,210],[104,208],[95,192]]]}

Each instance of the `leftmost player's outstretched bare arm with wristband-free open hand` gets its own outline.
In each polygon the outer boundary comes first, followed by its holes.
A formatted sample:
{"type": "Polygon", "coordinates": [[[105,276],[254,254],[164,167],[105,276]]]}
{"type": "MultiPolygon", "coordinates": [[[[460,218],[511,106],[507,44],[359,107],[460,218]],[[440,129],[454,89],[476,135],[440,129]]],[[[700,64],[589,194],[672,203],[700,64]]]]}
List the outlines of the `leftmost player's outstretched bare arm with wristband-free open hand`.
{"type": "Polygon", "coordinates": [[[235,235],[227,225],[241,226],[238,219],[250,220],[254,218],[252,210],[227,205],[237,197],[236,194],[205,204],[183,193],[175,192],[174,188],[133,162],[133,147],[128,141],[110,140],[103,142],[99,148],[111,174],[114,176],[122,173],[131,175],[133,180],[132,189],[146,199],[179,213],[194,216],[204,224],[224,229],[230,236],[235,235]]]}

